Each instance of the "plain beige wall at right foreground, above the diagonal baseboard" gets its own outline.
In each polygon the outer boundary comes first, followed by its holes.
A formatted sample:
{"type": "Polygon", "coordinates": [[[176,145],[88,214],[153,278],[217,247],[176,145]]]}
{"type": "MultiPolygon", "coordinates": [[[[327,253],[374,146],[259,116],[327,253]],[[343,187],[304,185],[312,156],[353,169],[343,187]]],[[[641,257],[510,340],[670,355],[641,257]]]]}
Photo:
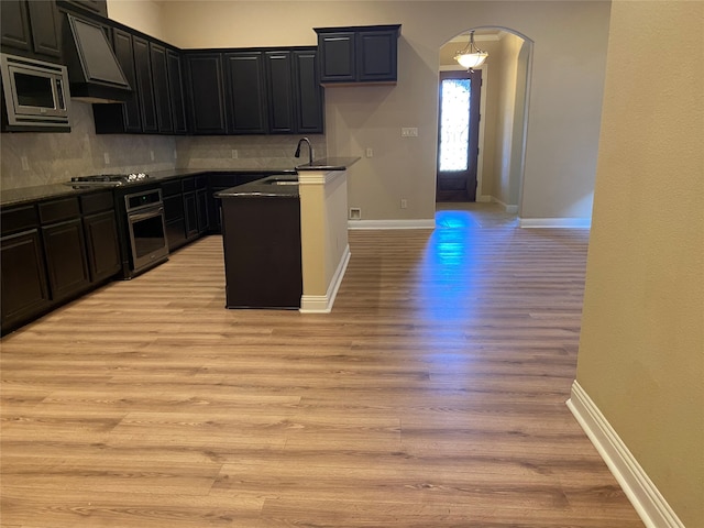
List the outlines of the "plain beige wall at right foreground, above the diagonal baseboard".
{"type": "Polygon", "coordinates": [[[688,528],[704,527],[703,51],[704,3],[613,3],[578,360],[688,528]]]}

